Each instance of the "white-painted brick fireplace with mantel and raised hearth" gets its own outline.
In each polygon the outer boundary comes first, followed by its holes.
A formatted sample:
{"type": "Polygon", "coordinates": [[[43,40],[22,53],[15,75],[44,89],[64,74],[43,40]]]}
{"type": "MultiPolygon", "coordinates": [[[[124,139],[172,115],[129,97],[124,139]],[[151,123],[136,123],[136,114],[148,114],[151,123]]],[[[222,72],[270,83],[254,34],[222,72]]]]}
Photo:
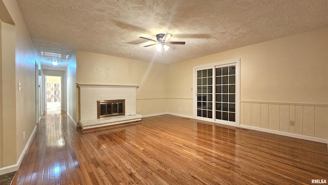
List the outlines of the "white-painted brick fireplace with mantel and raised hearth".
{"type": "Polygon", "coordinates": [[[138,86],[77,84],[77,88],[78,124],[83,130],[140,121],[142,118],[141,115],[136,114],[136,88],[138,86]],[[124,114],[118,113],[122,108],[120,102],[124,102],[124,114]],[[99,116],[100,104],[103,105],[103,116],[99,116]]]}

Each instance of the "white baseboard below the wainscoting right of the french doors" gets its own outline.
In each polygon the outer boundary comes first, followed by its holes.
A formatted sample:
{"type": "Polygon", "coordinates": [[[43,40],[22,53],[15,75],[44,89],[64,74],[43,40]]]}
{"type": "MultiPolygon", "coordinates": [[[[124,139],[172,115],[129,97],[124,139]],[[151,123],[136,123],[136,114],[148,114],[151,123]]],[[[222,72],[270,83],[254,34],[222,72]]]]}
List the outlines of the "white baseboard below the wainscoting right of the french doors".
{"type": "Polygon", "coordinates": [[[298,138],[298,139],[305,139],[309,141],[315,141],[315,142],[320,142],[320,143],[328,143],[327,139],[321,139],[321,138],[316,138],[316,137],[311,137],[311,136],[303,136],[303,135],[298,135],[298,134],[293,134],[293,133],[286,133],[286,132],[281,132],[281,131],[274,131],[274,130],[269,130],[266,128],[258,128],[254,126],[248,126],[248,125],[240,125],[241,128],[247,128],[249,130],[255,130],[255,131],[260,131],[260,132],[265,132],[265,133],[271,133],[271,134],[277,134],[281,136],[288,136],[288,137],[293,137],[293,138],[298,138]]]}

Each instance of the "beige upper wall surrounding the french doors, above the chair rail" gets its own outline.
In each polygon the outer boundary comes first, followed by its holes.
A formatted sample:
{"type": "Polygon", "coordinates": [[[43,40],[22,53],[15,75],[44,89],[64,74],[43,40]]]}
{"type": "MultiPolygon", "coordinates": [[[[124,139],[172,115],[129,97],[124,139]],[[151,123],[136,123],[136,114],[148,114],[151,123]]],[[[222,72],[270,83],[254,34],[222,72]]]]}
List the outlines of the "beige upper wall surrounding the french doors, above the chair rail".
{"type": "Polygon", "coordinates": [[[168,97],[192,97],[194,66],[240,58],[242,101],[326,104],[327,30],[319,29],[171,64],[168,89],[174,90],[168,91],[168,97]]]}

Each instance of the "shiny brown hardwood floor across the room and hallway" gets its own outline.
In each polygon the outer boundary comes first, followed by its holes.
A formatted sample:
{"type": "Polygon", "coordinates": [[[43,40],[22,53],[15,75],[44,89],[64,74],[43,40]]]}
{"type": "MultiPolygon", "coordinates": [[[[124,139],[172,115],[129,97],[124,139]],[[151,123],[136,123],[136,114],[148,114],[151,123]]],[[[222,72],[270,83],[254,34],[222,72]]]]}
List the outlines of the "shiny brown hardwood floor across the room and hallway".
{"type": "Polygon", "coordinates": [[[311,184],[327,144],[163,115],[80,131],[42,117],[12,184],[311,184]]]}

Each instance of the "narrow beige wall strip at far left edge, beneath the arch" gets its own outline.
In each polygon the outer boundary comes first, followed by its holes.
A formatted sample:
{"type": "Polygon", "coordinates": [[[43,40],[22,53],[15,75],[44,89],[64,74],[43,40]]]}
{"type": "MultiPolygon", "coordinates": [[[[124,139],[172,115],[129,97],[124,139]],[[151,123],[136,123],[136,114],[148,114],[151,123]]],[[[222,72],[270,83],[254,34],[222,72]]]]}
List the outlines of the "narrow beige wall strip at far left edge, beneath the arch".
{"type": "Polygon", "coordinates": [[[2,161],[0,167],[6,167],[16,163],[16,100],[15,91],[15,35],[13,25],[1,22],[2,26],[2,161]]]}

